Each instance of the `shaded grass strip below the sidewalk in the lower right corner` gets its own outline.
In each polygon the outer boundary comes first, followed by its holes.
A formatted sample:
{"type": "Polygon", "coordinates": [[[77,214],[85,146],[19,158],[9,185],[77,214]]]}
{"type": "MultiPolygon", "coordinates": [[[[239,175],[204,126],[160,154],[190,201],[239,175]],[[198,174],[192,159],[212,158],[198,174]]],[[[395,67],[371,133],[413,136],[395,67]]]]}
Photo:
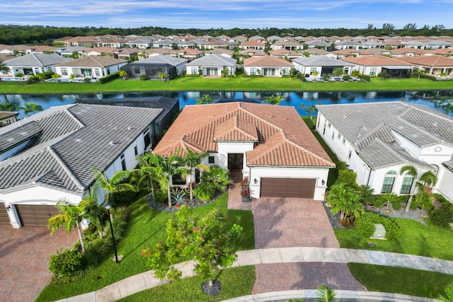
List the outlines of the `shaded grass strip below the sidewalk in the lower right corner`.
{"type": "Polygon", "coordinates": [[[348,267],[355,279],[369,291],[437,298],[453,284],[451,274],[359,263],[349,263],[348,267]]]}

